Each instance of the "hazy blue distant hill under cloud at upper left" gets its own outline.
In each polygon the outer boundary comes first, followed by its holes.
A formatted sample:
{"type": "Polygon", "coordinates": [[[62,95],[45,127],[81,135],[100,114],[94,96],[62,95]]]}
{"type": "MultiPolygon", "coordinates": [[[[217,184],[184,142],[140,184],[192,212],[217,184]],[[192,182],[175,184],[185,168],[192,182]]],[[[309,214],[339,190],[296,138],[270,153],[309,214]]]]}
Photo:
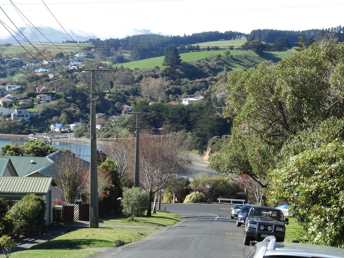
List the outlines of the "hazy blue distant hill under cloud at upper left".
{"type": "MultiPolygon", "coordinates": [[[[39,38],[39,41],[42,42],[47,42],[47,39],[42,36],[42,34],[40,32],[42,32],[50,41],[52,42],[57,42],[60,43],[62,41],[66,41],[66,40],[71,40],[71,38],[62,31],[58,31],[55,30],[53,28],[50,27],[37,27],[37,29],[40,31],[37,31],[33,26],[30,27],[30,29],[36,34],[36,36],[39,38]]],[[[32,34],[32,32],[30,31],[30,29],[28,27],[21,27],[19,28],[19,30],[25,35],[25,37],[29,40],[29,41],[38,41],[36,39],[36,37],[32,34]]],[[[20,32],[17,31],[18,34],[20,34],[20,32]]],[[[74,40],[76,41],[86,41],[88,39],[94,39],[96,36],[89,34],[89,35],[80,35],[78,33],[75,33],[73,31],[68,32],[74,40]]],[[[20,34],[21,35],[21,34],[20,34]]],[[[7,38],[8,40],[14,40],[12,36],[7,38]]],[[[18,39],[18,36],[17,36],[18,39]]]]}

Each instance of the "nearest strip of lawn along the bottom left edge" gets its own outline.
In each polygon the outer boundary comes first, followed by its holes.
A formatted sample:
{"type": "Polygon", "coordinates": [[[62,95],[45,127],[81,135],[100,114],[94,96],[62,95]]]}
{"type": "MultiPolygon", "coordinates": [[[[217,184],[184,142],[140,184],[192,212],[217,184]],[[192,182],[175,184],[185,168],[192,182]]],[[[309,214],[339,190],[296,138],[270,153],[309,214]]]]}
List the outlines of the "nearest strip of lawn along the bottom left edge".
{"type": "Polygon", "coordinates": [[[24,250],[13,252],[10,257],[14,258],[53,258],[53,257],[68,257],[68,258],[82,258],[98,254],[99,251],[85,251],[85,250],[24,250]]]}

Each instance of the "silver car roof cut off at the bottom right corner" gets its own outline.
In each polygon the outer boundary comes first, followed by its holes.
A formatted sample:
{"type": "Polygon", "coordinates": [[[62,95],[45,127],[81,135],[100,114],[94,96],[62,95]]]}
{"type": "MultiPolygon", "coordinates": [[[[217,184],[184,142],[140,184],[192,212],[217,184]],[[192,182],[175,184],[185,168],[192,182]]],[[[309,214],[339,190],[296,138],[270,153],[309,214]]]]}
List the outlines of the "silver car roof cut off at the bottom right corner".
{"type": "Polygon", "coordinates": [[[276,243],[275,236],[269,236],[257,243],[247,258],[340,258],[344,257],[344,249],[330,246],[301,243],[276,243]]]}

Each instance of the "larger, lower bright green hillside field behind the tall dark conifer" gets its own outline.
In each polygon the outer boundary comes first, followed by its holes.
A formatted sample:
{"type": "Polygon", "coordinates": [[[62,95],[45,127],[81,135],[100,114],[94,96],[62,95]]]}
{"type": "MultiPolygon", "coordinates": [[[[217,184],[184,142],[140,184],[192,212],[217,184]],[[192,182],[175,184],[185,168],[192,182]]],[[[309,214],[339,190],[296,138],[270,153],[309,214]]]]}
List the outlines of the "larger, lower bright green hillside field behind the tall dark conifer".
{"type": "MultiPolygon", "coordinates": [[[[224,63],[233,69],[233,71],[243,71],[249,67],[252,67],[253,62],[261,63],[264,60],[271,60],[273,62],[280,61],[283,57],[291,55],[291,52],[264,52],[263,57],[259,57],[252,51],[241,51],[241,50],[231,50],[230,54],[233,55],[233,58],[230,59],[225,56],[223,50],[217,51],[202,51],[202,52],[192,52],[192,53],[184,53],[180,54],[182,60],[184,62],[190,62],[194,60],[201,60],[205,57],[209,57],[211,55],[221,54],[221,60],[224,63]],[[243,55],[246,54],[246,57],[243,55]]],[[[148,58],[144,60],[138,60],[133,62],[127,62],[122,64],[117,64],[117,66],[123,65],[126,68],[134,69],[150,69],[154,68],[154,66],[159,66],[163,68],[162,62],[164,61],[164,56],[148,58]]]]}

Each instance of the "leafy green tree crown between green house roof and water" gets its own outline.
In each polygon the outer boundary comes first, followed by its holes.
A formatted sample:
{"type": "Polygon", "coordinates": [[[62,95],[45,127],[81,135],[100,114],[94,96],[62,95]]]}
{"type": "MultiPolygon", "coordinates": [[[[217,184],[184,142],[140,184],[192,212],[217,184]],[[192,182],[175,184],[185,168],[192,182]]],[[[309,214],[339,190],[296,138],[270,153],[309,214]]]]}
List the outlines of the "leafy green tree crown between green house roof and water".
{"type": "Polygon", "coordinates": [[[5,144],[1,147],[0,154],[6,156],[34,156],[45,157],[53,152],[57,151],[57,148],[47,145],[43,140],[29,140],[23,145],[11,145],[5,144]]]}

